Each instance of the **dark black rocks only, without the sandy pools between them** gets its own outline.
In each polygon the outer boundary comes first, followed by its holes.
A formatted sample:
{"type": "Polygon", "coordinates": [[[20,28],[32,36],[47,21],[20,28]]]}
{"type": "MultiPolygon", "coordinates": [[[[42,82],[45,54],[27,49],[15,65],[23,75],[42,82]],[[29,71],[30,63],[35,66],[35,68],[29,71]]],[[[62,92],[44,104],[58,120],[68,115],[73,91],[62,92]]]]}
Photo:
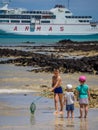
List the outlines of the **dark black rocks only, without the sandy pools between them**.
{"type": "MultiPolygon", "coordinates": [[[[60,52],[65,52],[66,49],[98,49],[98,44],[91,44],[91,43],[83,43],[83,45],[72,42],[70,40],[61,41],[62,45],[60,46],[53,46],[48,47],[56,50],[60,50],[60,52]],[[63,45],[63,43],[65,44],[63,45]],[[95,46],[95,47],[94,47],[95,46]]],[[[61,44],[60,43],[60,44],[61,44]]],[[[37,47],[35,47],[37,48],[37,47]]],[[[41,46],[38,48],[45,48],[45,46],[41,46]]],[[[67,50],[68,51],[68,50],[67,50]]],[[[31,51],[20,51],[20,50],[13,50],[13,49],[0,49],[0,57],[11,57],[13,56],[14,59],[8,59],[0,61],[1,64],[12,63],[18,66],[38,66],[39,68],[33,69],[34,72],[52,72],[54,68],[59,68],[64,73],[74,73],[74,72],[86,72],[86,73],[98,73],[98,56],[90,56],[90,57],[83,57],[83,58],[63,58],[60,59],[56,57],[53,53],[52,55],[47,54],[40,54],[40,53],[33,53],[31,51]]]]}

